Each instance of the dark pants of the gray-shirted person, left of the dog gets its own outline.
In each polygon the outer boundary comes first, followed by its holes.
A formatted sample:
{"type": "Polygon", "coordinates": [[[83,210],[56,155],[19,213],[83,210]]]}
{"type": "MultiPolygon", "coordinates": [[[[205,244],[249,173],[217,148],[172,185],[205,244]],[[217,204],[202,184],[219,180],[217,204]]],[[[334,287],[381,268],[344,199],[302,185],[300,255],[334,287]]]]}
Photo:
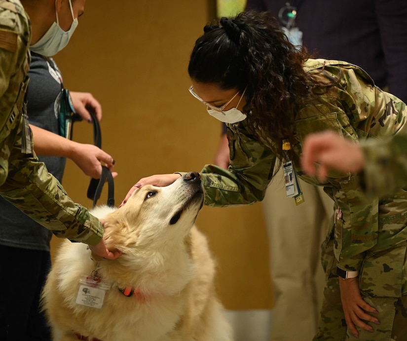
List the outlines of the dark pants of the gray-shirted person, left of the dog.
{"type": "Polygon", "coordinates": [[[39,298],[51,267],[47,251],[0,245],[0,340],[50,341],[39,298]]]}

